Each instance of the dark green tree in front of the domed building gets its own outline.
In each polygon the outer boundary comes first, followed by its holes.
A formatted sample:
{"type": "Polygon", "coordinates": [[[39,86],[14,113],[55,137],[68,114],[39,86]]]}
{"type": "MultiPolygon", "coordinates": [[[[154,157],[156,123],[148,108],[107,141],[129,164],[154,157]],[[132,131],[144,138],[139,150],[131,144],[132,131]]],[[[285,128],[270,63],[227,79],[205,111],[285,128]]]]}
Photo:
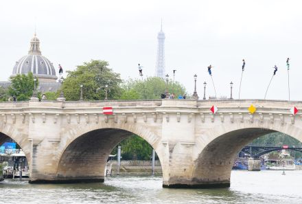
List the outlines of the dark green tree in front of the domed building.
{"type": "MultiPolygon", "coordinates": [[[[10,78],[12,84],[8,89],[11,96],[16,96],[18,101],[30,100],[34,91],[34,75],[32,72],[25,74],[17,74],[14,78],[10,78]]],[[[38,78],[36,80],[38,87],[38,78]]]]}

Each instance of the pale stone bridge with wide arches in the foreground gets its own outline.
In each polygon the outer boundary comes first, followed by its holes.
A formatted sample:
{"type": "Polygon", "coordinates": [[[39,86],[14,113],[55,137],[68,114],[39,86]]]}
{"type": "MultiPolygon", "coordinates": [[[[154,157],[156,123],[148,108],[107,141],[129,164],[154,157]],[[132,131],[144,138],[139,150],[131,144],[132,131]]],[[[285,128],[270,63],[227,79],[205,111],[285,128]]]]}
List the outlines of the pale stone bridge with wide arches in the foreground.
{"type": "Polygon", "coordinates": [[[10,137],[23,148],[31,183],[104,181],[108,155],[135,134],[156,150],[163,187],[229,187],[233,161],[253,139],[279,131],[302,141],[302,115],[292,115],[293,106],[302,109],[302,102],[3,102],[0,143],[10,137]],[[104,106],[113,107],[113,115],[103,115],[104,106]]]}

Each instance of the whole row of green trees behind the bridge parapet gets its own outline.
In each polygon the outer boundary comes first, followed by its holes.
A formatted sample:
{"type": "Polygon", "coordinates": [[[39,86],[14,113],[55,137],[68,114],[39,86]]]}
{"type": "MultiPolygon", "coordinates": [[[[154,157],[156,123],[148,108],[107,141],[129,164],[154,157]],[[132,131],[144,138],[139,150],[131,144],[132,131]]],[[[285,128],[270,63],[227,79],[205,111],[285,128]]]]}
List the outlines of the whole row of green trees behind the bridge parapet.
{"type": "MultiPolygon", "coordinates": [[[[176,98],[178,95],[186,94],[185,87],[179,82],[169,80],[166,83],[158,77],[121,80],[120,74],[108,66],[108,62],[104,60],[91,60],[79,65],[74,71],[67,71],[67,77],[63,80],[60,90],[38,93],[38,97],[45,94],[47,100],[56,100],[62,91],[67,101],[80,100],[80,85],[83,100],[104,100],[106,89],[108,100],[160,99],[165,91],[175,93],[176,98]]],[[[7,101],[12,96],[16,96],[18,101],[30,100],[34,91],[34,76],[31,72],[27,75],[19,74],[10,78],[10,81],[8,89],[0,87],[1,101],[7,101]]],[[[38,87],[38,78],[36,86],[38,87]]]]}

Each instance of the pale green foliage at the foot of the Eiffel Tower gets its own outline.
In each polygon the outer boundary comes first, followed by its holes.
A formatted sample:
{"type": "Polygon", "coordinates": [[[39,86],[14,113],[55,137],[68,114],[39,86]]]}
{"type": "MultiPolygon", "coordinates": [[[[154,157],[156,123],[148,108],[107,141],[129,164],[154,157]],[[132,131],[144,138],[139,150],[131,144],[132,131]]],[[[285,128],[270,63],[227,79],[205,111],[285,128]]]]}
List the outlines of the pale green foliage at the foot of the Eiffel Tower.
{"type": "Polygon", "coordinates": [[[170,80],[167,84],[165,80],[159,77],[149,77],[145,80],[128,80],[124,84],[124,93],[121,95],[128,95],[128,98],[123,99],[160,99],[161,94],[165,91],[169,93],[175,93],[176,98],[178,95],[184,95],[186,93],[185,87],[179,82],[170,80]],[[131,98],[131,96],[133,98],[131,98]]]}

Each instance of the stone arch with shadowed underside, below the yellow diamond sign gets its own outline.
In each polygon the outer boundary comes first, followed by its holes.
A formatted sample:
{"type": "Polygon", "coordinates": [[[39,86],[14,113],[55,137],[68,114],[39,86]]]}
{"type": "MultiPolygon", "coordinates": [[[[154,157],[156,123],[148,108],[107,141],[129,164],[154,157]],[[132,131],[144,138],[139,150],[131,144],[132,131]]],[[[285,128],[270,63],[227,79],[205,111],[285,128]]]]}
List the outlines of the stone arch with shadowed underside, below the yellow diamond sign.
{"type": "Polygon", "coordinates": [[[281,132],[302,141],[302,127],[270,122],[239,122],[210,128],[197,139],[194,155],[193,185],[229,187],[231,169],[237,153],[253,139],[268,133],[281,132]]]}

